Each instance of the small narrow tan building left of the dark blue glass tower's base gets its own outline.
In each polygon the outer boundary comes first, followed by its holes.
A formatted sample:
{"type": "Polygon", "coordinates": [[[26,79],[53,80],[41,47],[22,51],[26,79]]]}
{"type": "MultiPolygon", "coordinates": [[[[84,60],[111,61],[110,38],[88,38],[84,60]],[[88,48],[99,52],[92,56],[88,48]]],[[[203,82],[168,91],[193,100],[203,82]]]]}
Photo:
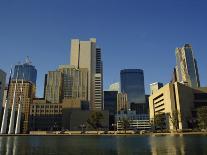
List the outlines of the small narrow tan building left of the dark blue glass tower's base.
{"type": "Polygon", "coordinates": [[[126,93],[117,94],[117,113],[130,109],[126,93]]]}

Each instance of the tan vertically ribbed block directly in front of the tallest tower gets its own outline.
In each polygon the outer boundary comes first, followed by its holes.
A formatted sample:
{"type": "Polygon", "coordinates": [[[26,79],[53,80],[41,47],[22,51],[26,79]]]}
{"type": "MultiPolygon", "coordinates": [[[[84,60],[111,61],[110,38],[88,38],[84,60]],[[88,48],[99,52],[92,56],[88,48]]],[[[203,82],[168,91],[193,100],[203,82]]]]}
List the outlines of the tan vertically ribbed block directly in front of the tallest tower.
{"type": "Polygon", "coordinates": [[[58,71],[63,75],[63,98],[88,101],[88,69],[60,65],[58,71]]]}

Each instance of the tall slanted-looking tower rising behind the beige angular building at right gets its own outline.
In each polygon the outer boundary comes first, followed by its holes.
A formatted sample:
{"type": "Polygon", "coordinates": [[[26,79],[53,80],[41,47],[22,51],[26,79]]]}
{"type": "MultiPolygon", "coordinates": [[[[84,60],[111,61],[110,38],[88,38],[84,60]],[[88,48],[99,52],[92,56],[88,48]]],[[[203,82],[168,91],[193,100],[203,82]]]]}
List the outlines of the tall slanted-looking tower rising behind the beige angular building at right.
{"type": "Polygon", "coordinates": [[[176,80],[190,87],[200,87],[198,67],[190,44],[176,48],[176,80]]]}

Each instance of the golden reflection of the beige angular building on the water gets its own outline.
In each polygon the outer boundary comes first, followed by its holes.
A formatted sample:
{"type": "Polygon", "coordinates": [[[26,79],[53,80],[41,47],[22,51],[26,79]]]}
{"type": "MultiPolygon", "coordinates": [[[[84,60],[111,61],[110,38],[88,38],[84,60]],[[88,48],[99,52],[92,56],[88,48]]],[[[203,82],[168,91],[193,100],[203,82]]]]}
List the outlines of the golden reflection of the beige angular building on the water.
{"type": "Polygon", "coordinates": [[[182,135],[177,136],[155,136],[149,138],[152,155],[173,154],[184,155],[185,145],[182,135]]]}

